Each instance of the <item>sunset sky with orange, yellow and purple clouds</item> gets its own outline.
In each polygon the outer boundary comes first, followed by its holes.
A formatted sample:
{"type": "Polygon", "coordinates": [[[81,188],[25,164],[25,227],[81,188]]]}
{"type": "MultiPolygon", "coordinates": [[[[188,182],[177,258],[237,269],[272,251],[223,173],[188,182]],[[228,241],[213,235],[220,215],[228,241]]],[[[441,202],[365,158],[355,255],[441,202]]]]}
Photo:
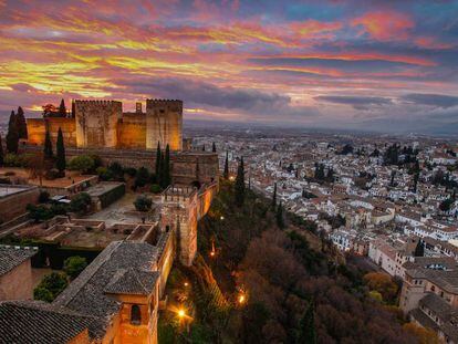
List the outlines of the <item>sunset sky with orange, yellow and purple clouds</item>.
{"type": "Polygon", "coordinates": [[[458,1],[0,0],[0,116],[180,98],[185,118],[458,132],[458,1]]]}

